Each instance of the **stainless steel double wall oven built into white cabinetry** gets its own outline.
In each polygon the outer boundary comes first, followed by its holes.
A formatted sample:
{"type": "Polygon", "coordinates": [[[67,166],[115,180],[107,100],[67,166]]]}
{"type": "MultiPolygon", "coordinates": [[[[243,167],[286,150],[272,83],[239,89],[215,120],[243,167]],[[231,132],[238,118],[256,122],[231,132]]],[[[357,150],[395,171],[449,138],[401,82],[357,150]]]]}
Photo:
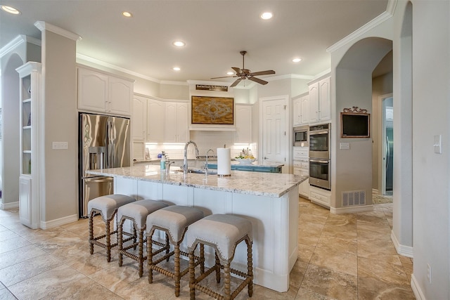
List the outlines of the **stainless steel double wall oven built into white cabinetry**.
{"type": "Polygon", "coordinates": [[[309,184],[326,190],[330,180],[330,124],[309,126],[309,184]]]}

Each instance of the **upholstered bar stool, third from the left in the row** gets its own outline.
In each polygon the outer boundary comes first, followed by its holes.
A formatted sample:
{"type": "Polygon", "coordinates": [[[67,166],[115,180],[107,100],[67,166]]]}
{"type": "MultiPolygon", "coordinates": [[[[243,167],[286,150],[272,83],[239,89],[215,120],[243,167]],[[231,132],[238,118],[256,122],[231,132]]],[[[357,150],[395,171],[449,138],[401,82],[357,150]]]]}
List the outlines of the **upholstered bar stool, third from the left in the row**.
{"type": "MultiPolygon", "coordinates": [[[[158,211],[153,212],[147,216],[147,256],[148,256],[148,283],[153,282],[153,270],[158,271],[162,275],[175,280],[175,296],[180,294],[180,280],[181,277],[188,273],[189,268],[180,271],[180,255],[188,257],[187,252],[180,251],[180,244],[183,242],[184,235],[188,226],[190,226],[195,221],[202,219],[204,216],[203,211],[196,209],[194,207],[184,207],[179,205],[173,205],[170,207],[165,207],[158,211]],[[156,261],[153,261],[153,250],[151,244],[153,242],[153,233],[155,230],[162,230],[169,236],[170,243],[174,245],[174,251],[168,253],[169,245],[167,247],[167,252],[165,256],[160,257],[156,261]],[[160,266],[158,263],[164,261],[165,259],[169,261],[170,256],[174,256],[174,271],[167,270],[160,266]]],[[[203,252],[203,247],[200,250],[203,252]]],[[[204,261],[197,260],[197,266],[204,261]]],[[[204,264],[201,267],[205,270],[204,264]]]]}

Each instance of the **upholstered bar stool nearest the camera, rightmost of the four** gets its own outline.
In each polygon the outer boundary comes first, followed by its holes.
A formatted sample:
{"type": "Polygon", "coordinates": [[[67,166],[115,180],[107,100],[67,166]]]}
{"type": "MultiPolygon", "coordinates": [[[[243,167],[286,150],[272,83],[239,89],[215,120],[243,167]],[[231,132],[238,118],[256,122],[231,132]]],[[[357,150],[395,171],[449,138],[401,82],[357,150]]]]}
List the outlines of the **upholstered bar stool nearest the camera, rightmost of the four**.
{"type": "Polygon", "coordinates": [[[189,251],[189,289],[191,299],[195,299],[195,290],[204,292],[216,299],[234,299],[248,285],[248,296],[253,294],[252,262],[252,223],[232,214],[212,214],[189,226],[186,235],[189,251]],[[236,246],[245,241],[247,244],[247,273],[231,268],[236,246]],[[212,268],[195,278],[194,251],[197,244],[207,244],[214,248],[215,264],[212,268]],[[200,285],[208,275],[216,271],[217,283],[220,282],[220,269],[224,269],[224,294],[214,292],[210,287],[200,285]],[[234,273],[244,278],[243,282],[231,293],[230,275],[234,273]]]}

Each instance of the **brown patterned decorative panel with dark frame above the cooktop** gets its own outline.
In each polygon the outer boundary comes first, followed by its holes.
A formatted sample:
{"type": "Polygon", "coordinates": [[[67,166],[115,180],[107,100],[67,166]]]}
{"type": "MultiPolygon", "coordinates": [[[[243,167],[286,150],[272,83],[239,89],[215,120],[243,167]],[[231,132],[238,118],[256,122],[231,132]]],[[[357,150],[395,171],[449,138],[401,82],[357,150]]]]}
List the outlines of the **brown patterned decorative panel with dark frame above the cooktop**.
{"type": "Polygon", "coordinates": [[[192,96],[191,124],[234,124],[234,98],[192,96]]]}

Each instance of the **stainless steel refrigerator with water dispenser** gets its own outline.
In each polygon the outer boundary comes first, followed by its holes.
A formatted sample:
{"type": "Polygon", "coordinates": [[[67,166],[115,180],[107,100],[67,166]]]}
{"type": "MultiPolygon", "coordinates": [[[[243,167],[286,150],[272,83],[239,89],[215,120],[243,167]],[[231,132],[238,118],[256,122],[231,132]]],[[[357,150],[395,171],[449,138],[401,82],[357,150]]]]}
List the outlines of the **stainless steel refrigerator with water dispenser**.
{"type": "Polygon", "coordinates": [[[129,167],[130,124],[124,117],[79,114],[79,216],[88,216],[87,203],[114,193],[113,177],[87,174],[91,169],[129,167]]]}

